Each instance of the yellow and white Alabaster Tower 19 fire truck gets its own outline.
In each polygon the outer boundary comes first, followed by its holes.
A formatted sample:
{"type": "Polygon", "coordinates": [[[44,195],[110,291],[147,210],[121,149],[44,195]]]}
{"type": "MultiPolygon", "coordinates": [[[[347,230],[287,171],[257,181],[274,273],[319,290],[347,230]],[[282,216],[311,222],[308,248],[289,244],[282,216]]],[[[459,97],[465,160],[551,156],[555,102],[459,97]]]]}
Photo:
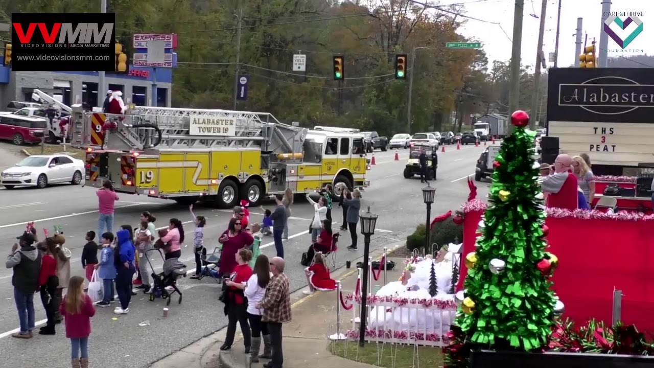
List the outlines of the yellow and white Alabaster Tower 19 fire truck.
{"type": "Polygon", "coordinates": [[[332,183],[368,187],[363,136],[307,130],[269,113],[135,107],[126,115],[73,106],[71,145],[86,149],[86,183],[113,181],[120,193],[198,200],[218,208],[240,200],[310,193],[332,183]]]}

